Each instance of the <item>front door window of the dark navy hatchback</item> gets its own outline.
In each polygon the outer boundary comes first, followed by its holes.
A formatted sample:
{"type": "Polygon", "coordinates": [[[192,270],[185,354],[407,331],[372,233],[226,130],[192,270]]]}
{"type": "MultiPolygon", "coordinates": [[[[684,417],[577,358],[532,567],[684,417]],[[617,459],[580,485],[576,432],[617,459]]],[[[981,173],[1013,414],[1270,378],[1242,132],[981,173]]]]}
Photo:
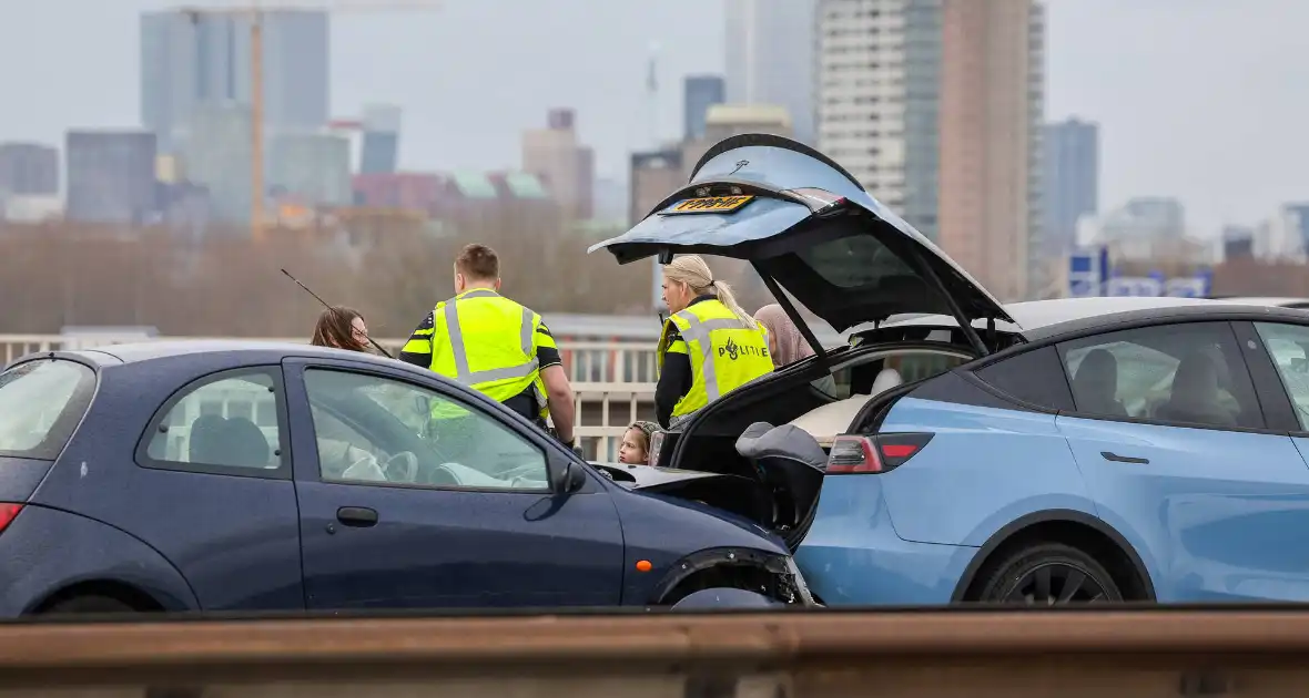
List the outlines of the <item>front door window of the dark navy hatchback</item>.
{"type": "Polygon", "coordinates": [[[548,490],[546,454],[480,409],[402,380],[305,371],[325,481],[548,490]]]}

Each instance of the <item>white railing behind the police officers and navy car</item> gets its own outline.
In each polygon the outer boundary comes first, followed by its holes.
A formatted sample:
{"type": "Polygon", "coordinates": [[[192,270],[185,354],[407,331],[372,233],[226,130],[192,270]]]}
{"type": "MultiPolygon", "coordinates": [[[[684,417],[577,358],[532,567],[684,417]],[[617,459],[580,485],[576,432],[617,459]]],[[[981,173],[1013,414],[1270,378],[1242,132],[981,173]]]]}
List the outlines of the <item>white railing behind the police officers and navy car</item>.
{"type": "MultiPolygon", "coordinates": [[[[157,340],[217,337],[156,337],[157,340]]],[[[39,352],[89,349],[140,341],[113,336],[0,335],[0,365],[39,352]]],[[[304,339],[271,339],[302,344],[304,339]]],[[[404,340],[377,340],[387,352],[397,353],[404,340]]],[[[588,457],[618,459],[618,443],[627,425],[652,420],[654,414],[654,348],[635,341],[571,341],[559,339],[564,367],[576,399],[576,433],[588,457]],[[594,424],[592,424],[594,422],[594,424]]]]}

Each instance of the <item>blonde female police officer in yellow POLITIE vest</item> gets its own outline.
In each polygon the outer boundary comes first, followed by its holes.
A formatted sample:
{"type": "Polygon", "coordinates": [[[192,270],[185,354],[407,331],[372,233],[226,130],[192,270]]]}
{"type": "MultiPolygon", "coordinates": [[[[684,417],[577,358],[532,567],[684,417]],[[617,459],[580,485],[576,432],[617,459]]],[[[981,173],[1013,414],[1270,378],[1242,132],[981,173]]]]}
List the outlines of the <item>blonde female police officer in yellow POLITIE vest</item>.
{"type": "Polygon", "coordinates": [[[664,267],[664,303],[673,315],[658,342],[654,414],[665,429],[772,371],[767,331],[699,256],[664,267]]]}

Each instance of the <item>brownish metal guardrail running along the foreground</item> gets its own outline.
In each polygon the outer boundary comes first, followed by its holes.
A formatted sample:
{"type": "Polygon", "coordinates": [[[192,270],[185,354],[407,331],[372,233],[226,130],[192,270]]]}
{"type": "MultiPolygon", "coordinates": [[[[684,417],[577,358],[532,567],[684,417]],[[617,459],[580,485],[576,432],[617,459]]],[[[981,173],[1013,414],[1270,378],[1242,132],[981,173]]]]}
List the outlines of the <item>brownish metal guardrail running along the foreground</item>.
{"type": "Polygon", "coordinates": [[[1289,698],[1305,652],[1300,609],[34,623],[0,694],[1289,698]]]}

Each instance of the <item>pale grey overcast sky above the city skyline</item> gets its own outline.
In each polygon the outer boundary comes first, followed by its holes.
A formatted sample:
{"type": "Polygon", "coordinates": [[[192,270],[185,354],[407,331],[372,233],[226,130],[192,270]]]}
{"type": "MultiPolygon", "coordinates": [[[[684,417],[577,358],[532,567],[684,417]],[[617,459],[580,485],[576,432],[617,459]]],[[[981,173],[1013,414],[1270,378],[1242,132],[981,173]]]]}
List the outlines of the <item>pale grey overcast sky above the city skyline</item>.
{"type": "MultiPolygon", "coordinates": [[[[137,13],[170,4],[0,0],[0,140],[62,142],[69,127],[136,125],[137,13]]],[[[1309,200],[1309,3],[1047,5],[1046,114],[1100,122],[1102,209],[1134,195],[1178,196],[1192,229],[1210,234],[1309,200]]],[[[681,78],[723,69],[721,34],[711,0],[344,12],[332,25],[332,106],[344,116],[369,101],[402,105],[401,159],[415,170],[517,166],[518,133],[546,108],[572,106],[601,175],[623,176],[627,153],[651,139],[651,43],[661,46],[658,128],[672,137],[681,78]]]]}

